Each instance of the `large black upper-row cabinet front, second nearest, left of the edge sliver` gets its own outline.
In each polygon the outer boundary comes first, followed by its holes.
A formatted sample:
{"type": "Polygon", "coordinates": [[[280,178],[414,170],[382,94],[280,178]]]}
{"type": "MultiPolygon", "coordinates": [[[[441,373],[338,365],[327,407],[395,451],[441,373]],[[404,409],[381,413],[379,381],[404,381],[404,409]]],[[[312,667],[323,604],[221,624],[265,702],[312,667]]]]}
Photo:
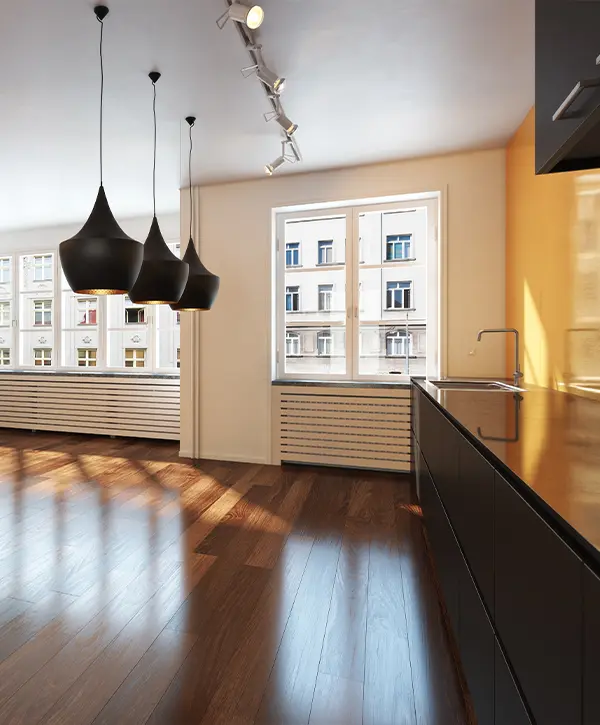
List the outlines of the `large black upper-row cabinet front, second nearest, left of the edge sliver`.
{"type": "Polygon", "coordinates": [[[581,722],[583,564],[496,474],[495,623],[540,725],[581,722]]]}

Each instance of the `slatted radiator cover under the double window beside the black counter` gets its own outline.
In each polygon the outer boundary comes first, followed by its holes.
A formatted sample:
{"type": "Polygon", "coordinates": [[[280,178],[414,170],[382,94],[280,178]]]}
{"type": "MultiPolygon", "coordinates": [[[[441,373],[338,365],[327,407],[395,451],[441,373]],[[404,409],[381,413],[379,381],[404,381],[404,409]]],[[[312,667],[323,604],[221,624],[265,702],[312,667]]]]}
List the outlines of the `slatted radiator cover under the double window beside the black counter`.
{"type": "Polygon", "coordinates": [[[410,471],[410,389],[273,388],[275,462],[410,471]]]}

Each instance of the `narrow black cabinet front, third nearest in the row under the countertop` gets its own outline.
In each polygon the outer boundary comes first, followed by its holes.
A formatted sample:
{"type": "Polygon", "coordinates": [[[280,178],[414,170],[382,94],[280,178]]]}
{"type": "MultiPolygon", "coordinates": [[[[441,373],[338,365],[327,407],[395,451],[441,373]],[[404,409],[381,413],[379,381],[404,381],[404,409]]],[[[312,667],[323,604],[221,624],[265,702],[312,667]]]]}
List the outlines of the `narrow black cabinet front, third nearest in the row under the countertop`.
{"type": "Polygon", "coordinates": [[[450,519],[488,607],[494,612],[494,469],[461,436],[450,519]]]}

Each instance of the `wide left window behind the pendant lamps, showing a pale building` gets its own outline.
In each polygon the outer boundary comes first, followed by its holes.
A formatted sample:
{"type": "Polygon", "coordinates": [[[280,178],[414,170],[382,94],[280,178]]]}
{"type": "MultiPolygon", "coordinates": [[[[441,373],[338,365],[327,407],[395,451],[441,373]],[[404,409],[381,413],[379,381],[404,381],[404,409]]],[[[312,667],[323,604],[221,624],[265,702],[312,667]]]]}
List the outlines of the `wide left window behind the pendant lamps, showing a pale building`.
{"type": "MultiPolygon", "coordinates": [[[[178,246],[170,245],[176,254],[178,246]]],[[[168,305],[134,305],[123,295],[76,295],[55,252],[0,257],[4,369],[177,373],[179,342],[177,313],[168,305]]]]}

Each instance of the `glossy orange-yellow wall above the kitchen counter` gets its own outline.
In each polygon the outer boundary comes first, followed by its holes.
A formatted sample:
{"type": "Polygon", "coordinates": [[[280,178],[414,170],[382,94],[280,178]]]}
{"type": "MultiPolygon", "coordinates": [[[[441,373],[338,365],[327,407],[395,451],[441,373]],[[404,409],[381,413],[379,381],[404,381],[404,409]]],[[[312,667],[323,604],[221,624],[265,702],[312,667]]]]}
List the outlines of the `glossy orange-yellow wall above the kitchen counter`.
{"type": "Polygon", "coordinates": [[[600,371],[600,172],[536,176],[534,146],[532,109],[506,152],[506,321],[525,381],[565,389],[600,371]]]}

